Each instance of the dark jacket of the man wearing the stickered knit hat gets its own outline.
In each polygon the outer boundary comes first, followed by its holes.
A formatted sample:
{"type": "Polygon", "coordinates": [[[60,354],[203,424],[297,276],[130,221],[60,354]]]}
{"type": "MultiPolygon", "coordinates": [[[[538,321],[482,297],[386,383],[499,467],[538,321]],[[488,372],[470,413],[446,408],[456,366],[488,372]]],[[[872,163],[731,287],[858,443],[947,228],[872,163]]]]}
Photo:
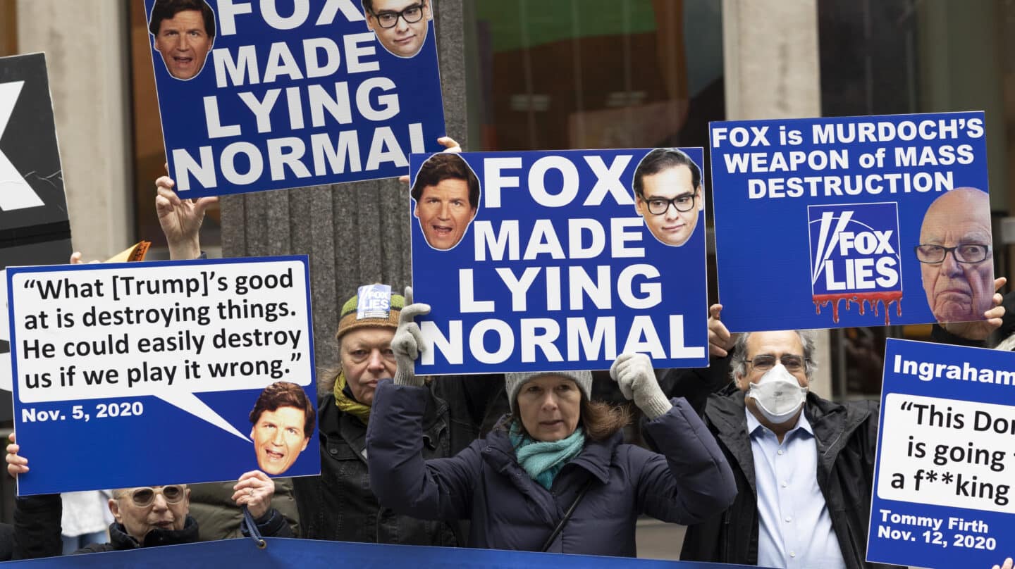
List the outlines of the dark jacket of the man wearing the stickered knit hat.
{"type": "MultiPolygon", "coordinates": [[[[478,438],[492,408],[506,409],[503,375],[441,376],[429,383],[423,456],[454,456],[478,438]],[[497,405],[504,400],[502,406],[497,405]]],[[[323,398],[318,409],[321,476],[292,479],[302,537],[311,540],[455,547],[467,525],[395,514],[378,504],[366,470],[366,425],[323,398]]]]}

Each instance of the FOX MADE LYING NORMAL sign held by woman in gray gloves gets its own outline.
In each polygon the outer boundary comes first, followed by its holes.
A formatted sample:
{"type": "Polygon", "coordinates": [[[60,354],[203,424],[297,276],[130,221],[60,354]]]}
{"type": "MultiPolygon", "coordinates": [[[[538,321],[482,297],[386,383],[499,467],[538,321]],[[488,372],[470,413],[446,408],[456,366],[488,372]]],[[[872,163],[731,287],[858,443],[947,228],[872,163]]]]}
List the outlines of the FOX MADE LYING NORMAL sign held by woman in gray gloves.
{"type": "Polygon", "coordinates": [[[417,373],[707,365],[702,154],[414,154],[417,373]]]}

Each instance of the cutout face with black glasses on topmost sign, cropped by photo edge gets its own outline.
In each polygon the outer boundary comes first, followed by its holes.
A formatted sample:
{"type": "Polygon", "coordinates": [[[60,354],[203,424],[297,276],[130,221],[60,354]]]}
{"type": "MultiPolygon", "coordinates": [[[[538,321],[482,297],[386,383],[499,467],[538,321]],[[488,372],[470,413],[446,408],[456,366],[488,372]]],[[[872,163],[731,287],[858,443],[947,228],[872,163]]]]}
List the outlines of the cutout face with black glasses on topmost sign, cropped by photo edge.
{"type": "Polygon", "coordinates": [[[363,0],[366,27],[377,34],[384,49],[394,56],[410,58],[426,41],[433,18],[430,0],[363,0]]]}

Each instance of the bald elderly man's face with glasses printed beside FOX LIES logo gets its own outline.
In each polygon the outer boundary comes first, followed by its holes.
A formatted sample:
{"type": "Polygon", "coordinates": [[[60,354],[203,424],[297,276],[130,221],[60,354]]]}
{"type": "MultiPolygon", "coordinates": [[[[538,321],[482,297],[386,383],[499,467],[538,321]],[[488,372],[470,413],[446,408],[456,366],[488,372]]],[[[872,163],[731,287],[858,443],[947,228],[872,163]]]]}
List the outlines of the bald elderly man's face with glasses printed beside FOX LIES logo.
{"type": "Polygon", "coordinates": [[[982,321],[993,306],[992,242],[986,192],[956,188],[927,208],[916,253],[927,303],[939,323],[982,321]]]}

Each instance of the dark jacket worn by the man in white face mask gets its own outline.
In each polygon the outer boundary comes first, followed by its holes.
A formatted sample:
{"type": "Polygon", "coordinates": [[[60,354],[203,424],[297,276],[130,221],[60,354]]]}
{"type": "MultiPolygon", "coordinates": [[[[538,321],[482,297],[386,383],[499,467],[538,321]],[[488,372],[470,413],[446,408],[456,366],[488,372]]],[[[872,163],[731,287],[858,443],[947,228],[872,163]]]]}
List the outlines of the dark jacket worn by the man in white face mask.
{"type": "MultiPolygon", "coordinates": [[[[701,370],[673,370],[668,396],[686,396],[719,442],[737,481],[737,499],[725,512],[687,527],[682,561],[757,565],[758,508],[754,454],[747,433],[744,393],[729,382],[729,358],[701,370]],[[708,395],[718,385],[718,393],[708,395]]],[[[895,567],[867,563],[867,530],[878,436],[878,403],[839,405],[807,394],[807,420],[817,445],[818,487],[849,569],[895,567]]]]}

